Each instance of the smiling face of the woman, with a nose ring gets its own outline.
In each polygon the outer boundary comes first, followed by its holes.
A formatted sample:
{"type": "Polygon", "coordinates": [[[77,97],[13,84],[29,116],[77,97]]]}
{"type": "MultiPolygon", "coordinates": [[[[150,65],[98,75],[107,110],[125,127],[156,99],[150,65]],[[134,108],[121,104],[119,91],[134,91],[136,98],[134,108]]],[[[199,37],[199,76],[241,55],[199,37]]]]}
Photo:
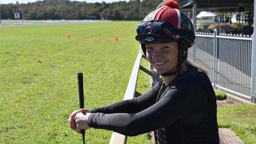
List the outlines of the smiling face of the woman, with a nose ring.
{"type": "Polygon", "coordinates": [[[147,59],[156,74],[176,72],[178,65],[178,42],[146,44],[147,59]]]}

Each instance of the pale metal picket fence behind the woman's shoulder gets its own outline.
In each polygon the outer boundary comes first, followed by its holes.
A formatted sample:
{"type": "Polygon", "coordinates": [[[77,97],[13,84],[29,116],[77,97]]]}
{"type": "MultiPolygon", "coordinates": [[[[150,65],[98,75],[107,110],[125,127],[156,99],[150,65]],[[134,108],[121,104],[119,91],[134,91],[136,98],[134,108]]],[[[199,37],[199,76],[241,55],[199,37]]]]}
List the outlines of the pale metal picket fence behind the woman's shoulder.
{"type": "Polygon", "coordinates": [[[217,35],[216,31],[196,33],[188,58],[208,69],[217,88],[251,99],[251,54],[252,36],[217,35]]]}

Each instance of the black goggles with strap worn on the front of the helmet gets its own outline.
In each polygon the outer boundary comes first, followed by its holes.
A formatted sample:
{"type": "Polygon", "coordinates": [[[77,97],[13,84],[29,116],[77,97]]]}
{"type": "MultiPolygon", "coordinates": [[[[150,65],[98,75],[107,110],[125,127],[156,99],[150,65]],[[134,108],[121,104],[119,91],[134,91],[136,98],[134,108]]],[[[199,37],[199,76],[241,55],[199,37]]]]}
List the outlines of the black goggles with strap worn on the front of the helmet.
{"type": "Polygon", "coordinates": [[[139,43],[179,41],[179,39],[172,37],[174,35],[193,37],[195,34],[191,31],[177,29],[165,20],[150,20],[137,25],[137,36],[135,39],[139,43]]]}

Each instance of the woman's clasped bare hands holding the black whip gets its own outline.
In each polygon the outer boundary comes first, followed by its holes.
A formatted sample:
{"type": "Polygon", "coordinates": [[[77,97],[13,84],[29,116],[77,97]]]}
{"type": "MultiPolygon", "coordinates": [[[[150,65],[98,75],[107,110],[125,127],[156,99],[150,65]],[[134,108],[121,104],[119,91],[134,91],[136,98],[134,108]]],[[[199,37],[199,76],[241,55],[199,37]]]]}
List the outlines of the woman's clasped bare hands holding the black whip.
{"type": "Polygon", "coordinates": [[[91,112],[87,109],[80,109],[73,111],[69,116],[68,124],[69,127],[74,129],[76,132],[81,133],[81,129],[89,129],[88,118],[91,112]]]}

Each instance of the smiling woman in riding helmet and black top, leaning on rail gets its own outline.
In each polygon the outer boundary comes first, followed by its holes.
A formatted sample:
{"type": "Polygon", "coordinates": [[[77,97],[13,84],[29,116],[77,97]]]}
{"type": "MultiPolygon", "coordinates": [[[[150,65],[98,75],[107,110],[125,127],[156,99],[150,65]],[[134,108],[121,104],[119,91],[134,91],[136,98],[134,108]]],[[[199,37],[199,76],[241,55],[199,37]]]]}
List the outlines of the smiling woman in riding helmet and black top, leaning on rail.
{"type": "Polygon", "coordinates": [[[156,144],[219,144],[215,93],[206,70],[187,59],[195,43],[193,24],[175,1],[137,25],[135,39],[160,81],[148,92],[88,111],[74,111],[69,126],[135,136],[154,131],[156,144]]]}

